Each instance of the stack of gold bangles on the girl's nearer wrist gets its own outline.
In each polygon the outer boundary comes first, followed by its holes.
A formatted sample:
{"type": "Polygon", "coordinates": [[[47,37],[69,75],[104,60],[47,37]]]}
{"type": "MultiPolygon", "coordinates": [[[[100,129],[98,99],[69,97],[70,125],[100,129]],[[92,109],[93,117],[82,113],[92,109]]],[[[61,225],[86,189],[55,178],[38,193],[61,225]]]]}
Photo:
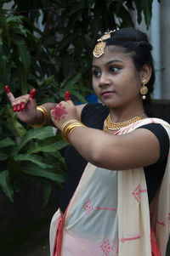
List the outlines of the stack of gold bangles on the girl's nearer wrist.
{"type": "Polygon", "coordinates": [[[71,135],[74,129],[78,127],[85,127],[85,125],[82,122],[75,119],[71,119],[69,121],[64,122],[61,127],[61,134],[63,139],[65,139],[65,141],[69,143],[69,135],[71,135]]]}

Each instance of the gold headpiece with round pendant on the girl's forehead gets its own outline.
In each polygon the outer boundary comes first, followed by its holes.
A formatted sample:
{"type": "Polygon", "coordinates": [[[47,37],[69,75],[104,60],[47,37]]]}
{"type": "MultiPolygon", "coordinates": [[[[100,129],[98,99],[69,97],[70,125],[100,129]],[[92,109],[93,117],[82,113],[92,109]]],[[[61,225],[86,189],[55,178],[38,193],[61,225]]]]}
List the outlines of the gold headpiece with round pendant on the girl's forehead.
{"type": "MultiPolygon", "coordinates": [[[[118,30],[118,29],[117,29],[118,30]]],[[[105,53],[105,42],[104,40],[107,40],[108,38],[111,37],[111,33],[115,32],[114,31],[109,31],[109,32],[105,32],[105,35],[103,35],[102,37],[100,37],[98,39],[98,42],[94,48],[94,57],[99,58],[101,55],[103,55],[105,53]]]]}

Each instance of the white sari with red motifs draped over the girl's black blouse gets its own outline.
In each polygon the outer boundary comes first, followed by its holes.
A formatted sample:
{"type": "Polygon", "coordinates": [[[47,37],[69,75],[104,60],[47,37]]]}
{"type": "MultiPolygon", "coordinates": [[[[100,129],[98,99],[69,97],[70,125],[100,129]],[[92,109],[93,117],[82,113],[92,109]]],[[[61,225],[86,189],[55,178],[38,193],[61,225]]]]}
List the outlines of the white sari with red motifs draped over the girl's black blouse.
{"type": "MultiPolygon", "coordinates": [[[[169,124],[158,118],[133,122],[116,135],[151,122],[161,123],[170,137],[169,124]]],[[[52,219],[51,256],[151,256],[150,224],[161,256],[165,256],[170,230],[169,168],[168,157],[150,216],[144,168],[106,170],[88,162],[64,218],[57,212],[52,219]],[[54,253],[57,230],[58,249],[54,253]]]]}

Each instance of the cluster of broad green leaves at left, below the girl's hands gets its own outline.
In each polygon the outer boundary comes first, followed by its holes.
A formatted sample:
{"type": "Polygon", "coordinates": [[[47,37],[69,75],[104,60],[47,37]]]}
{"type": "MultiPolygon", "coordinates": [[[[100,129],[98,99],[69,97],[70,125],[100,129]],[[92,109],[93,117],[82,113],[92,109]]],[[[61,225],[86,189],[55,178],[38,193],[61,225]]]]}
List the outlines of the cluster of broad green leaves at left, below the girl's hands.
{"type": "MultiPolygon", "coordinates": [[[[13,202],[14,187],[20,174],[37,176],[45,185],[44,202],[52,188],[51,180],[59,186],[65,181],[65,162],[59,150],[66,142],[60,135],[54,136],[53,128],[36,128],[26,131],[15,118],[10,106],[4,110],[10,136],[1,132],[0,158],[3,171],[0,173],[0,185],[3,192],[13,202]],[[22,137],[20,136],[22,134],[22,137]],[[20,141],[17,141],[19,138],[20,141]]],[[[4,122],[3,122],[3,125],[4,122]]]]}

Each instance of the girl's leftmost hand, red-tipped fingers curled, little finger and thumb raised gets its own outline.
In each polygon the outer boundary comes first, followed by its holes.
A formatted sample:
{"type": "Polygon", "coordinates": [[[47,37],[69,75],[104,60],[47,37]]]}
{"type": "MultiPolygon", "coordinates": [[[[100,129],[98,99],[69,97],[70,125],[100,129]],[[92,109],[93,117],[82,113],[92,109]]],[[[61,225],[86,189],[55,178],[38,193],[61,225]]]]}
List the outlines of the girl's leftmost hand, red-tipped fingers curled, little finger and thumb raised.
{"type": "Polygon", "coordinates": [[[22,122],[34,123],[37,120],[37,102],[36,102],[36,89],[33,88],[30,94],[22,95],[14,98],[8,86],[5,86],[5,91],[13,107],[13,111],[22,122]]]}

